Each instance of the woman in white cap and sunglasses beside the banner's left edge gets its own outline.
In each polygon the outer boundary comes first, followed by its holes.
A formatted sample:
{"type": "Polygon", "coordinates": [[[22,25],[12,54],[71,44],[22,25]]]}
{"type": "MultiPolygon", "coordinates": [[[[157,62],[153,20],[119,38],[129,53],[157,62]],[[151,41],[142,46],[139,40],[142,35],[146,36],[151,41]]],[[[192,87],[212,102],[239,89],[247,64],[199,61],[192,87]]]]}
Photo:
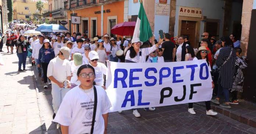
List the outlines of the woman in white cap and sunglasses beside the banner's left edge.
{"type": "Polygon", "coordinates": [[[90,51],[88,54],[89,57],[89,65],[91,65],[95,69],[95,84],[101,86],[106,89],[104,86],[104,77],[103,74],[107,74],[107,66],[99,61],[99,55],[96,51],[90,51]]]}

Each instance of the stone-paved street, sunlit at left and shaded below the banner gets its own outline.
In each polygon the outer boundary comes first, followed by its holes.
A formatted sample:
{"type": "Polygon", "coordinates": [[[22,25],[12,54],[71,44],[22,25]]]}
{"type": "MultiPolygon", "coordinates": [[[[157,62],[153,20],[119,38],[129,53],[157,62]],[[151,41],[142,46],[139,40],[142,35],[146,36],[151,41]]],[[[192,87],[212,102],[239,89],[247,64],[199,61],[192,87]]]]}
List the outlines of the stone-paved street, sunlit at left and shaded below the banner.
{"type": "MultiPolygon", "coordinates": [[[[3,50],[6,50],[5,48],[3,50]]],[[[17,72],[16,54],[1,53],[0,66],[0,134],[60,134],[52,122],[51,87],[43,84],[29,64],[29,71],[17,72]]],[[[156,111],[139,109],[141,118],[132,110],[109,114],[110,134],[256,134],[256,128],[222,114],[206,115],[205,107],[194,104],[196,115],[188,105],[157,107],[156,111]]]]}

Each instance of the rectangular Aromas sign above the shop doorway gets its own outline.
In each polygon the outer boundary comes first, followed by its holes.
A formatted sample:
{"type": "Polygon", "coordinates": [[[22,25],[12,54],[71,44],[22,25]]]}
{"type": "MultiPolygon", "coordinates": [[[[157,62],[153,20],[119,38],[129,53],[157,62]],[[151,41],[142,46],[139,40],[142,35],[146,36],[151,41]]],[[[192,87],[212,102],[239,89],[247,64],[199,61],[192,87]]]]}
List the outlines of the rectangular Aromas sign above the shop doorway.
{"type": "Polygon", "coordinates": [[[202,9],[194,7],[179,6],[179,16],[202,18],[202,9]]]}

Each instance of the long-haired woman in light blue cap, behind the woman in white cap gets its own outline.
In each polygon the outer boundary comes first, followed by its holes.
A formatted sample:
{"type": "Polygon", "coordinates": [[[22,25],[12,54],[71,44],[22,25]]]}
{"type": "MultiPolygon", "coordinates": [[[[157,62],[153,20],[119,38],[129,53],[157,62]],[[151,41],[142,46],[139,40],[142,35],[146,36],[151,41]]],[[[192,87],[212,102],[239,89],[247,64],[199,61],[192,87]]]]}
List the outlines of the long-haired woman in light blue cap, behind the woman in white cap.
{"type": "Polygon", "coordinates": [[[95,48],[95,51],[96,51],[96,52],[98,53],[98,55],[99,55],[98,61],[106,65],[106,61],[107,61],[108,59],[107,59],[107,52],[106,52],[106,49],[104,48],[103,42],[104,42],[104,41],[103,41],[102,39],[99,39],[98,45],[97,45],[97,47],[95,48]]]}

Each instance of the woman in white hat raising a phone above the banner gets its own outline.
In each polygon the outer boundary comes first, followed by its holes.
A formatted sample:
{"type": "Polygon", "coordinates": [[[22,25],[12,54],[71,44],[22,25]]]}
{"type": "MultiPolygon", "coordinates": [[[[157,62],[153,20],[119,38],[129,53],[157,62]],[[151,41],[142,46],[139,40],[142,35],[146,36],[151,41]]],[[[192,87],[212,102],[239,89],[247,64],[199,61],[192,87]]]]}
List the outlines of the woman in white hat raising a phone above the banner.
{"type": "MultiPolygon", "coordinates": [[[[132,62],[132,63],[145,63],[146,57],[150,54],[156,51],[158,49],[158,46],[163,42],[163,39],[159,38],[159,42],[157,42],[156,45],[153,45],[152,47],[147,47],[141,49],[141,45],[143,42],[139,40],[139,38],[133,38],[132,39],[132,46],[129,48],[125,55],[125,62],[132,62]]],[[[154,111],[155,108],[150,107],[150,111],[154,111]]],[[[122,112],[122,111],[118,111],[122,112]]],[[[135,117],[140,117],[141,114],[138,112],[137,109],[134,109],[132,114],[134,114],[135,117]]]]}

